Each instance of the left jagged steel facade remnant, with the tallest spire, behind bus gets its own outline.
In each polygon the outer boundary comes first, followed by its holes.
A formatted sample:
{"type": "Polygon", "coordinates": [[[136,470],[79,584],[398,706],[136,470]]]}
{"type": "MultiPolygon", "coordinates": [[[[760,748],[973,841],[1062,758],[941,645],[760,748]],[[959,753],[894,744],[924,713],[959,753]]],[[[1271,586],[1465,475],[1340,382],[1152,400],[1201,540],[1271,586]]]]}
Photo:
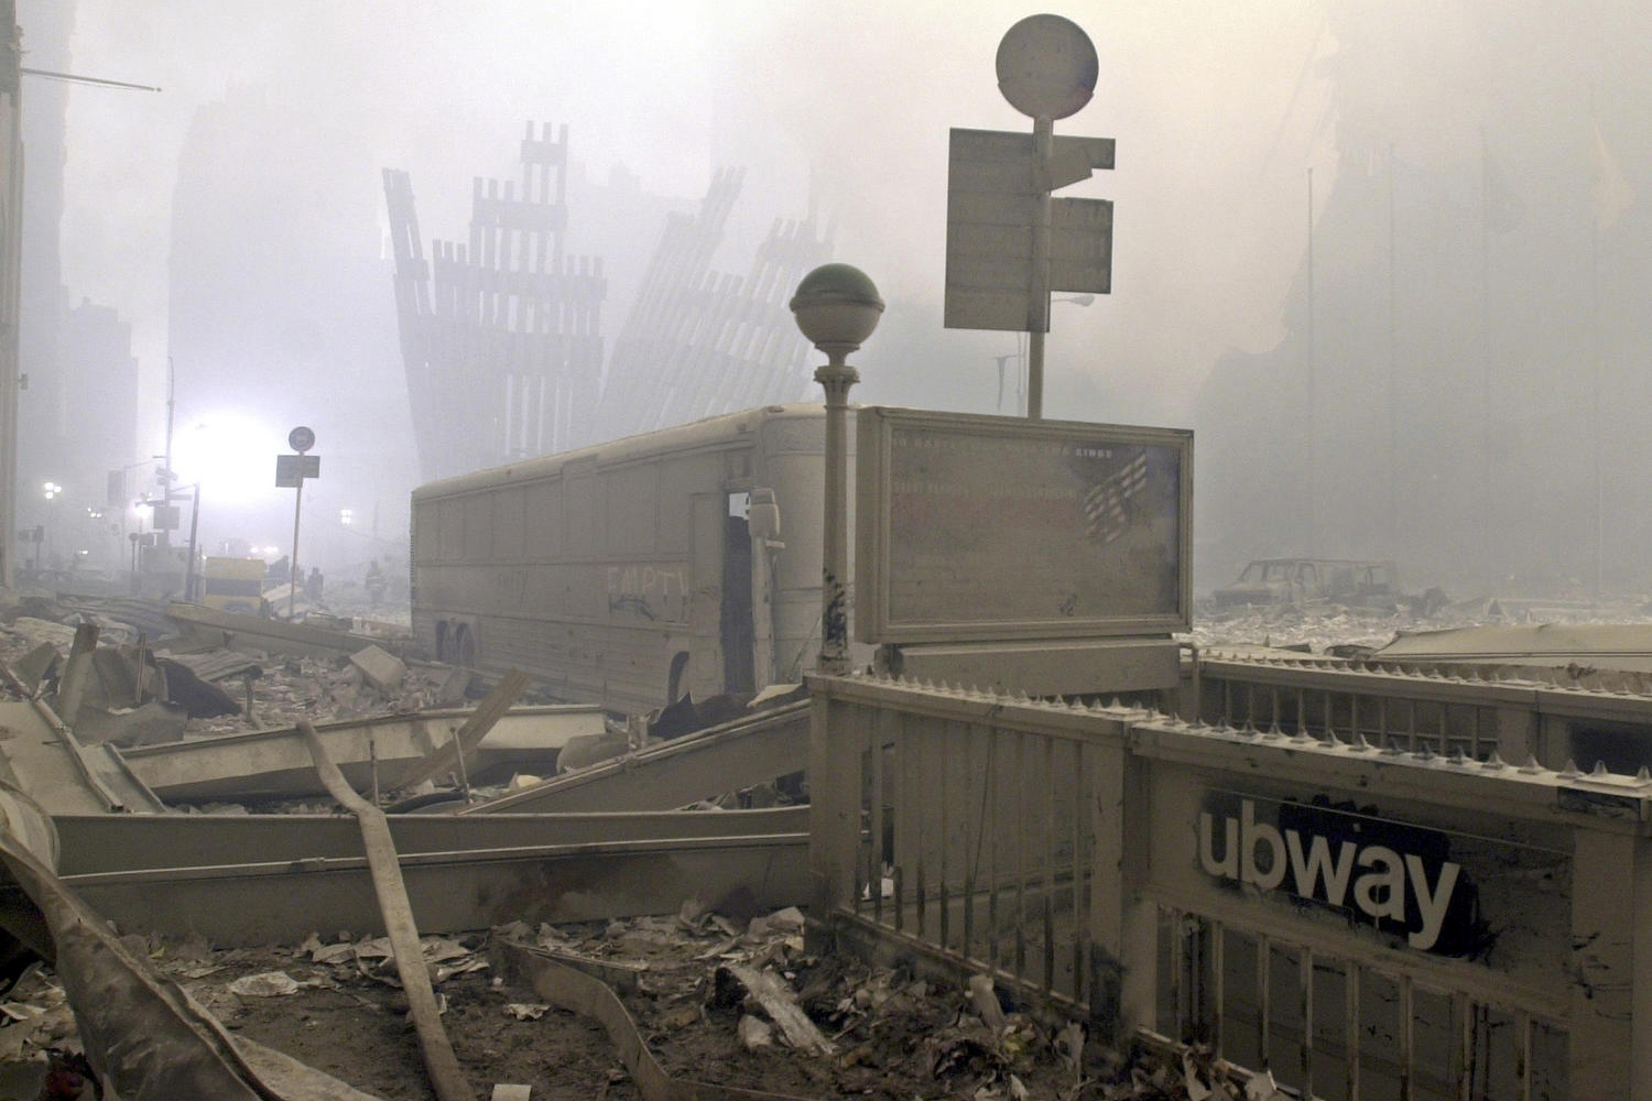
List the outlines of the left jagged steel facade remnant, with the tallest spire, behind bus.
{"type": "Polygon", "coordinates": [[[565,254],[567,170],[568,127],[529,122],[520,185],[476,178],[469,241],[433,241],[428,262],[411,180],[385,170],[425,479],[562,451],[596,403],[606,281],[600,259],[565,254]]]}

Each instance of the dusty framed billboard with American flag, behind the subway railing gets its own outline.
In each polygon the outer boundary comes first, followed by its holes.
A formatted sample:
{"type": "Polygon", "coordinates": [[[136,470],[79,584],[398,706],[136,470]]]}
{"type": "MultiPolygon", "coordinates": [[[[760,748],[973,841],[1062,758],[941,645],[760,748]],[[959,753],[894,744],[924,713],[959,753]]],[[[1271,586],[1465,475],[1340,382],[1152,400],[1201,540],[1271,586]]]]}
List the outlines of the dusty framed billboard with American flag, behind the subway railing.
{"type": "Polygon", "coordinates": [[[856,637],[1166,636],[1193,607],[1193,432],[871,406],[856,637]]]}

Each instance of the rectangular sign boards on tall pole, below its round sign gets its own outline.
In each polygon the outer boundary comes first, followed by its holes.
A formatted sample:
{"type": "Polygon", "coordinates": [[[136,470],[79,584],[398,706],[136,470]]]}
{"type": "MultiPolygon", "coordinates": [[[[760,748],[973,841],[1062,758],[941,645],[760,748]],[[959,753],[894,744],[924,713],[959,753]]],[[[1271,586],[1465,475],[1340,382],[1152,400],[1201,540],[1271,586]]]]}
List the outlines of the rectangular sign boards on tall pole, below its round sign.
{"type": "MultiPolygon", "coordinates": [[[[1113,167],[1113,140],[1054,137],[1041,163],[1031,134],[952,130],[947,170],[947,328],[1047,332],[1032,300],[1032,226],[1051,190],[1113,167]]],[[[1112,291],[1113,205],[1051,200],[1051,291],[1112,291]]]]}

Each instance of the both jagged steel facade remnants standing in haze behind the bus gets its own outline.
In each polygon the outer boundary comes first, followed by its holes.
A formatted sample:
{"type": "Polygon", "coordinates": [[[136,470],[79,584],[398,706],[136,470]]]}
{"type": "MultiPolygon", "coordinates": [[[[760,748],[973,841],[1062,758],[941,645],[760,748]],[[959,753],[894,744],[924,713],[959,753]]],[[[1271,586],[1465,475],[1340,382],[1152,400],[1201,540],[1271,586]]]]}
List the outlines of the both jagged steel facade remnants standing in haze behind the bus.
{"type": "Polygon", "coordinates": [[[430,259],[410,175],[383,173],[425,480],[806,396],[786,300],[831,256],[813,213],[776,218],[745,276],[719,272],[743,182],[719,170],[695,215],[667,215],[605,370],[603,261],[567,254],[568,129],[529,124],[520,158],[520,183],[474,182],[468,243],[430,259]]]}

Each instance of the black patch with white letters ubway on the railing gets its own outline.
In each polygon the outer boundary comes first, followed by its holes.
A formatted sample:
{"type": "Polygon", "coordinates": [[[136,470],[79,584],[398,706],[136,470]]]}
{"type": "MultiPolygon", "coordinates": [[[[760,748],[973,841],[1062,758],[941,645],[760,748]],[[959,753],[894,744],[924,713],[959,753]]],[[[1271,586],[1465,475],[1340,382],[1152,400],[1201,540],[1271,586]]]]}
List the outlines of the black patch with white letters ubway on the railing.
{"type": "Polygon", "coordinates": [[[1479,888],[1442,830],[1325,799],[1211,792],[1198,848],[1199,867],[1224,886],[1328,908],[1424,952],[1480,956],[1490,947],[1479,888]]]}

